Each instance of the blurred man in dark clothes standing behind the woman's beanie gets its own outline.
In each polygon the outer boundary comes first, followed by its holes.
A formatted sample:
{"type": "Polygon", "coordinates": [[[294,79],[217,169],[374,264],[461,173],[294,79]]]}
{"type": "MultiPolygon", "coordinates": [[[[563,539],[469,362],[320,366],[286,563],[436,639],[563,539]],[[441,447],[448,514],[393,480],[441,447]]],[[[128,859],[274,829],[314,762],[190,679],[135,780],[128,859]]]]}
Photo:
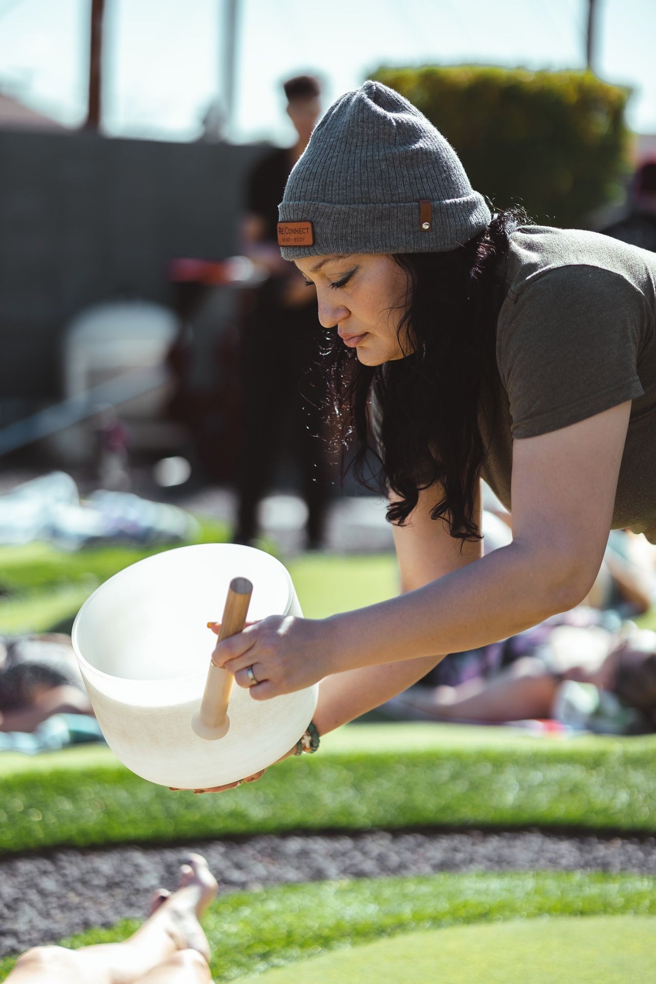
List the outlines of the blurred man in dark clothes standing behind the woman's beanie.
{"type": "Polygon", "coordinates": [[[277,210],[289,172],[319,119],[321,87],[311,76],[298,76],[283,88],[298,139],[293,147],[271,151],[252,171],[242,222],[244,252],[268,277],[251,294],[242,321],[243,445],[234,540],[249,543],[258,533],[258,505],[288,428],[289,451],[298,462],[308,507],[307,545],[312,549],[322,546],[328,507],[328,464],[321,440],[323,387],[316,366],[326,333],[314,294],[280,256],[277,210]]]}

